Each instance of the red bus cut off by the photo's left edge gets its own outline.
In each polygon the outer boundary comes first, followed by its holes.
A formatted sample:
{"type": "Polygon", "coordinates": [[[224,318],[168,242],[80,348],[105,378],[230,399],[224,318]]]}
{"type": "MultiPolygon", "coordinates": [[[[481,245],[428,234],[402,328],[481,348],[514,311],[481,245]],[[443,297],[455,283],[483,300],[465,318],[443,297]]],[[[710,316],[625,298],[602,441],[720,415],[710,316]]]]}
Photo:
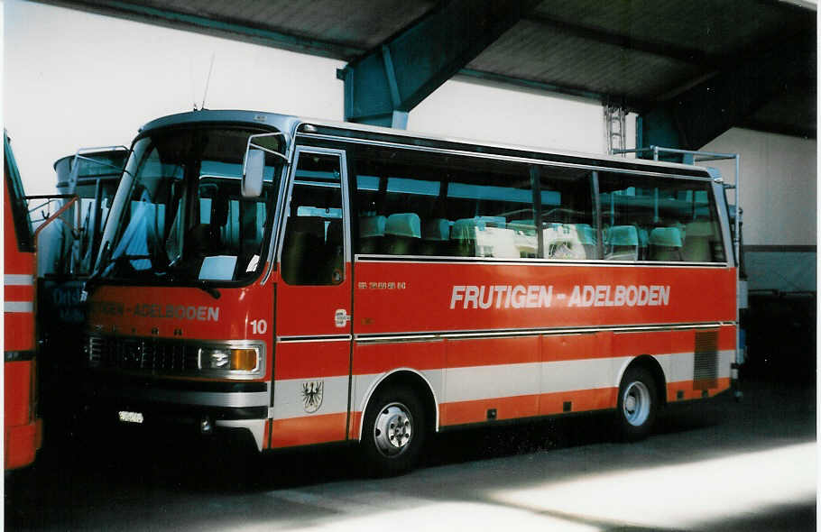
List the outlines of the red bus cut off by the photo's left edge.
{"type": "Polygon", "coordinates": [[[4,427],[5,469],[10,470],[34,461],[42,441],[42,422],[37,416],[34,234],[23,183],[5,131],[3,150],[4,427]]]}

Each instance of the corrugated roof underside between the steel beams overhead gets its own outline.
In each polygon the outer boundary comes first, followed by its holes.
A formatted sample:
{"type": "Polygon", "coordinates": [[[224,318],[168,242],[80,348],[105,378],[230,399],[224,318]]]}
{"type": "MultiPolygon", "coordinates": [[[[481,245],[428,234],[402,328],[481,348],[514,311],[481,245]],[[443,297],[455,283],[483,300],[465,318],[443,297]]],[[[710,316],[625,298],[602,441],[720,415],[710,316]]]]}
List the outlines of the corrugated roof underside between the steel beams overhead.
{"type": "MultiPolygon", "coordinates": [[[[433,0],[48,0],[51,4],[355,60],[433,0]]],[[[816,9],[779,0],[544,0],[464,73],[646,109],[800,32],[816,9]]],[[[816,58],[748,125],[815,136],[816,58]]],[[[328,80],[332,82],[332,80],[328,80]]],[[[743,125],[743,124],[742,124],[743,125]]]]}

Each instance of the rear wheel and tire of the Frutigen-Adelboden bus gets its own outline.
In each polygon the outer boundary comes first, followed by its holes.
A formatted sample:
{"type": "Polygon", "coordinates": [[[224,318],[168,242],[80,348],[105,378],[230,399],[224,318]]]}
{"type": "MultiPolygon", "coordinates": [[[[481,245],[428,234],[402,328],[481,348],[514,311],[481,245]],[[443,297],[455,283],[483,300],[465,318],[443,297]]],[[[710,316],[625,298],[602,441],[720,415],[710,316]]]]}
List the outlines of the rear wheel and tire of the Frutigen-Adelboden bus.
{"type": "Polygon", "coordinates": [[[650,371],[632,366],[624,372],[619,385],[616,430],[624,441],[635,442],[650,435],[656,420],[659,399],[656,381],[650,371]]]}

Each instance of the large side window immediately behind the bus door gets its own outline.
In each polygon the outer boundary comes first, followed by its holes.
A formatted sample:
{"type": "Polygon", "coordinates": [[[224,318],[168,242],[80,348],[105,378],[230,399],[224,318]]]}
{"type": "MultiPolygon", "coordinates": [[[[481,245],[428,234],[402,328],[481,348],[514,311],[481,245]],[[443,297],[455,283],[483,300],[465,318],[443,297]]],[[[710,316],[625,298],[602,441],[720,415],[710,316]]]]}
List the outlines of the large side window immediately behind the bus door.
{"type": "Polygon", "coordinates": [[[536,256],[527,165],[375,146],[354,165],[357,253],[536,256]]]}

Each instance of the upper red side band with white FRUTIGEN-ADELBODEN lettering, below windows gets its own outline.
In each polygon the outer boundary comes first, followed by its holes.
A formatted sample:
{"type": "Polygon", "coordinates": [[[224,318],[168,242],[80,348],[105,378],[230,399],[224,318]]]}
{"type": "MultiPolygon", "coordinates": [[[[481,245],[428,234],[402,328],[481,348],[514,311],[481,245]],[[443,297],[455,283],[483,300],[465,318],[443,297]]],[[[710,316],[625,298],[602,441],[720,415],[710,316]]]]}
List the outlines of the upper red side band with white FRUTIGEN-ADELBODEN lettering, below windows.
{"type": "Polygon", "coordinates": [[[356,279],[357,335],[735,321],[722,267],[362,260],[356,279]]]}

